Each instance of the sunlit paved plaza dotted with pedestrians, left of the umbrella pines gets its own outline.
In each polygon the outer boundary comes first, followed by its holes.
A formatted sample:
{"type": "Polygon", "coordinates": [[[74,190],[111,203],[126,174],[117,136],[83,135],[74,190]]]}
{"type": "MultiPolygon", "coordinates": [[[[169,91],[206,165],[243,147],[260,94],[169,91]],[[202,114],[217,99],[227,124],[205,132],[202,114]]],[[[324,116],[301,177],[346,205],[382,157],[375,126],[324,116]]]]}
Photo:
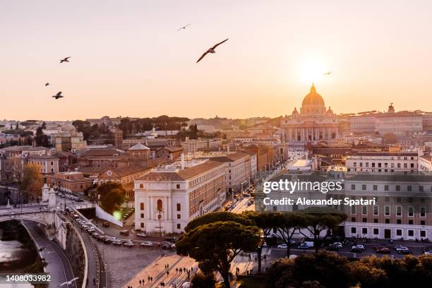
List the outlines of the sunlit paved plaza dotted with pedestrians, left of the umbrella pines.
{"type": "Polygon", "coordinates": [[[198,270],[198,264],[192,258],[172,255],[158,258],[157,261],[151,263],[146,268],[141,270],[132,280],[124,285],[124,288],[132,286],[133,288],[159,288],[161,282],[165,283],[164,287],[172,288],[174,284],[177,288],[181,287],[184,282],[190,282],[193,274],[198,270]],[[165,269],[165,265],[169,265],[168,269],[165,269]],[[193,272],[188,275],[186,272],[176,272],[176,268],[186,268],[193,272]],[[169,274],[167,275],[167,271],[169,274]],[[152,282],[148,282],[148,277],[153,277],[152,282]],[[139,281],[144,280],[144,284],[140,284],[139,281]]]}

